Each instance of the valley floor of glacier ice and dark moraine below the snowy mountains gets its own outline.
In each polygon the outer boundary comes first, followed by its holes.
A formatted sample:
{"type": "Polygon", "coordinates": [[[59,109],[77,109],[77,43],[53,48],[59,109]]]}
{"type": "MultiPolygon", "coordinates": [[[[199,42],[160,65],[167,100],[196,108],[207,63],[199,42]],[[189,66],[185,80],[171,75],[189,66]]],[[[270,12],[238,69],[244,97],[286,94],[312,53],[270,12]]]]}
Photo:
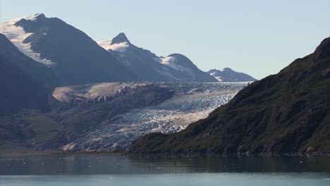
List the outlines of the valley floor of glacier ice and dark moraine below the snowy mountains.
{"type": "Polygon", "coordinates": [[[48,113],[26,110],[14,120],[6,119],[16,130],[6,141],[16,144],[18,151],[126,151],[130,142],[149,132],[178,132],[207,117],[248,83],[105,82],[57,87],[48,113]]]}

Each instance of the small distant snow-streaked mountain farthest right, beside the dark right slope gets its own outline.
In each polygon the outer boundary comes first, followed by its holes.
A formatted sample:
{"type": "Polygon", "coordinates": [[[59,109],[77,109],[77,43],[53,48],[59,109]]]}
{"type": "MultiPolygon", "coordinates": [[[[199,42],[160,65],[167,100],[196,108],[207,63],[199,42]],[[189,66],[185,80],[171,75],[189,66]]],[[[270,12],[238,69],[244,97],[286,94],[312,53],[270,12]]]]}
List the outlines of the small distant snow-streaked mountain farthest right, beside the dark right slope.
{"type": "Polygon", "coordinates": [[[219,80],[219,82],[250,82],[256,79],[245,73],[238,73],[231,68],[224,68],[224,70],[209,70],[207,73],[219,80]]]}

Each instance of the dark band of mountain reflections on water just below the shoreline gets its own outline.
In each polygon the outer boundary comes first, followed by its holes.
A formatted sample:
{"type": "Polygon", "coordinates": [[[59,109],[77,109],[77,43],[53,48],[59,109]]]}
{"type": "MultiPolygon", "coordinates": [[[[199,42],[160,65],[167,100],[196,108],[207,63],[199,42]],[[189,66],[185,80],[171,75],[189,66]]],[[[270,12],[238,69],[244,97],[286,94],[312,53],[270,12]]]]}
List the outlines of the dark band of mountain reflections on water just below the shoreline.
{"type": "Polygon", "coordinates": [[[49,155],[1,158],[0,175],[327,172],[330,156],[128,157],[49,155]]]}

